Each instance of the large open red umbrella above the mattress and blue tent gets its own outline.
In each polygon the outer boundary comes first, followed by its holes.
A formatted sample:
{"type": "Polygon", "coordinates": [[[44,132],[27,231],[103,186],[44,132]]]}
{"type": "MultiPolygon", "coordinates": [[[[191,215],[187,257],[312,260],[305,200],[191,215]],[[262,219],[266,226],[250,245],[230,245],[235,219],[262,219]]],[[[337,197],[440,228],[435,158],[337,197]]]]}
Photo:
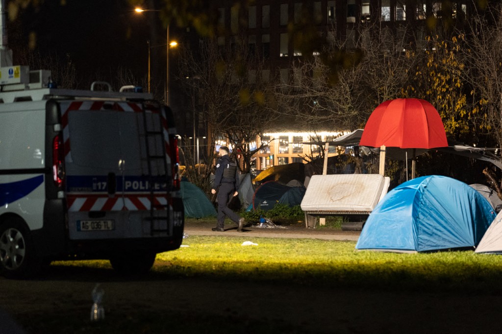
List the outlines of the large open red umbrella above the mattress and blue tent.
{"type": "Polygon", "coordinates": [[[380,104],[369,116],[361,146],[433,148],[448,146],[436,108],[422,99],[395,99],[380,104]]]}

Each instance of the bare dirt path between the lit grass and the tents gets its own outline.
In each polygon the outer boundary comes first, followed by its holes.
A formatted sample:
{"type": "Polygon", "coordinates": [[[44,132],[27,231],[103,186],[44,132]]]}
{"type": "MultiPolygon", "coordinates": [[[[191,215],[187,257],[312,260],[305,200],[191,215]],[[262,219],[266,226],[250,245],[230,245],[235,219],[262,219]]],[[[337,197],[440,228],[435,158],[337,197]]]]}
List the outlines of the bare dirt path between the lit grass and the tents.
{"type": "Polygon", "coordinates": [[[218,235],[228,237],[261,237],[261,238],[306,238],[322,240],[349,240],[357,241],[360,232],[342,231],[332,228],[307,229],[295,225],[285,228],[260,228],[256,225],[247,225],[242,232],[237,232],[237,224],[225,224],[225,232],[213,232],[211,228],[214,223],[207,222],[187,222],[185,223],[185,233],[190,235],[218,235]]]}

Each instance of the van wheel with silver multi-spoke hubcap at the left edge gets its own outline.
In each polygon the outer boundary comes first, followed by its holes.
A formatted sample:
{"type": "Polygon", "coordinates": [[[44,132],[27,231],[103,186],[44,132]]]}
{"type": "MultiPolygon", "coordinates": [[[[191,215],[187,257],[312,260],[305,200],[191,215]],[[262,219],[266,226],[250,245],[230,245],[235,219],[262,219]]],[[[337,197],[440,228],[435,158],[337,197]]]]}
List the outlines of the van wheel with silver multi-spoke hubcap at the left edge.
{"type": "Polygon", "coordinates": [[[40,264],[24,221],[19,217],[7,218],[0,225],[0,274],[6,278],[28,278],[40,264]]]}

